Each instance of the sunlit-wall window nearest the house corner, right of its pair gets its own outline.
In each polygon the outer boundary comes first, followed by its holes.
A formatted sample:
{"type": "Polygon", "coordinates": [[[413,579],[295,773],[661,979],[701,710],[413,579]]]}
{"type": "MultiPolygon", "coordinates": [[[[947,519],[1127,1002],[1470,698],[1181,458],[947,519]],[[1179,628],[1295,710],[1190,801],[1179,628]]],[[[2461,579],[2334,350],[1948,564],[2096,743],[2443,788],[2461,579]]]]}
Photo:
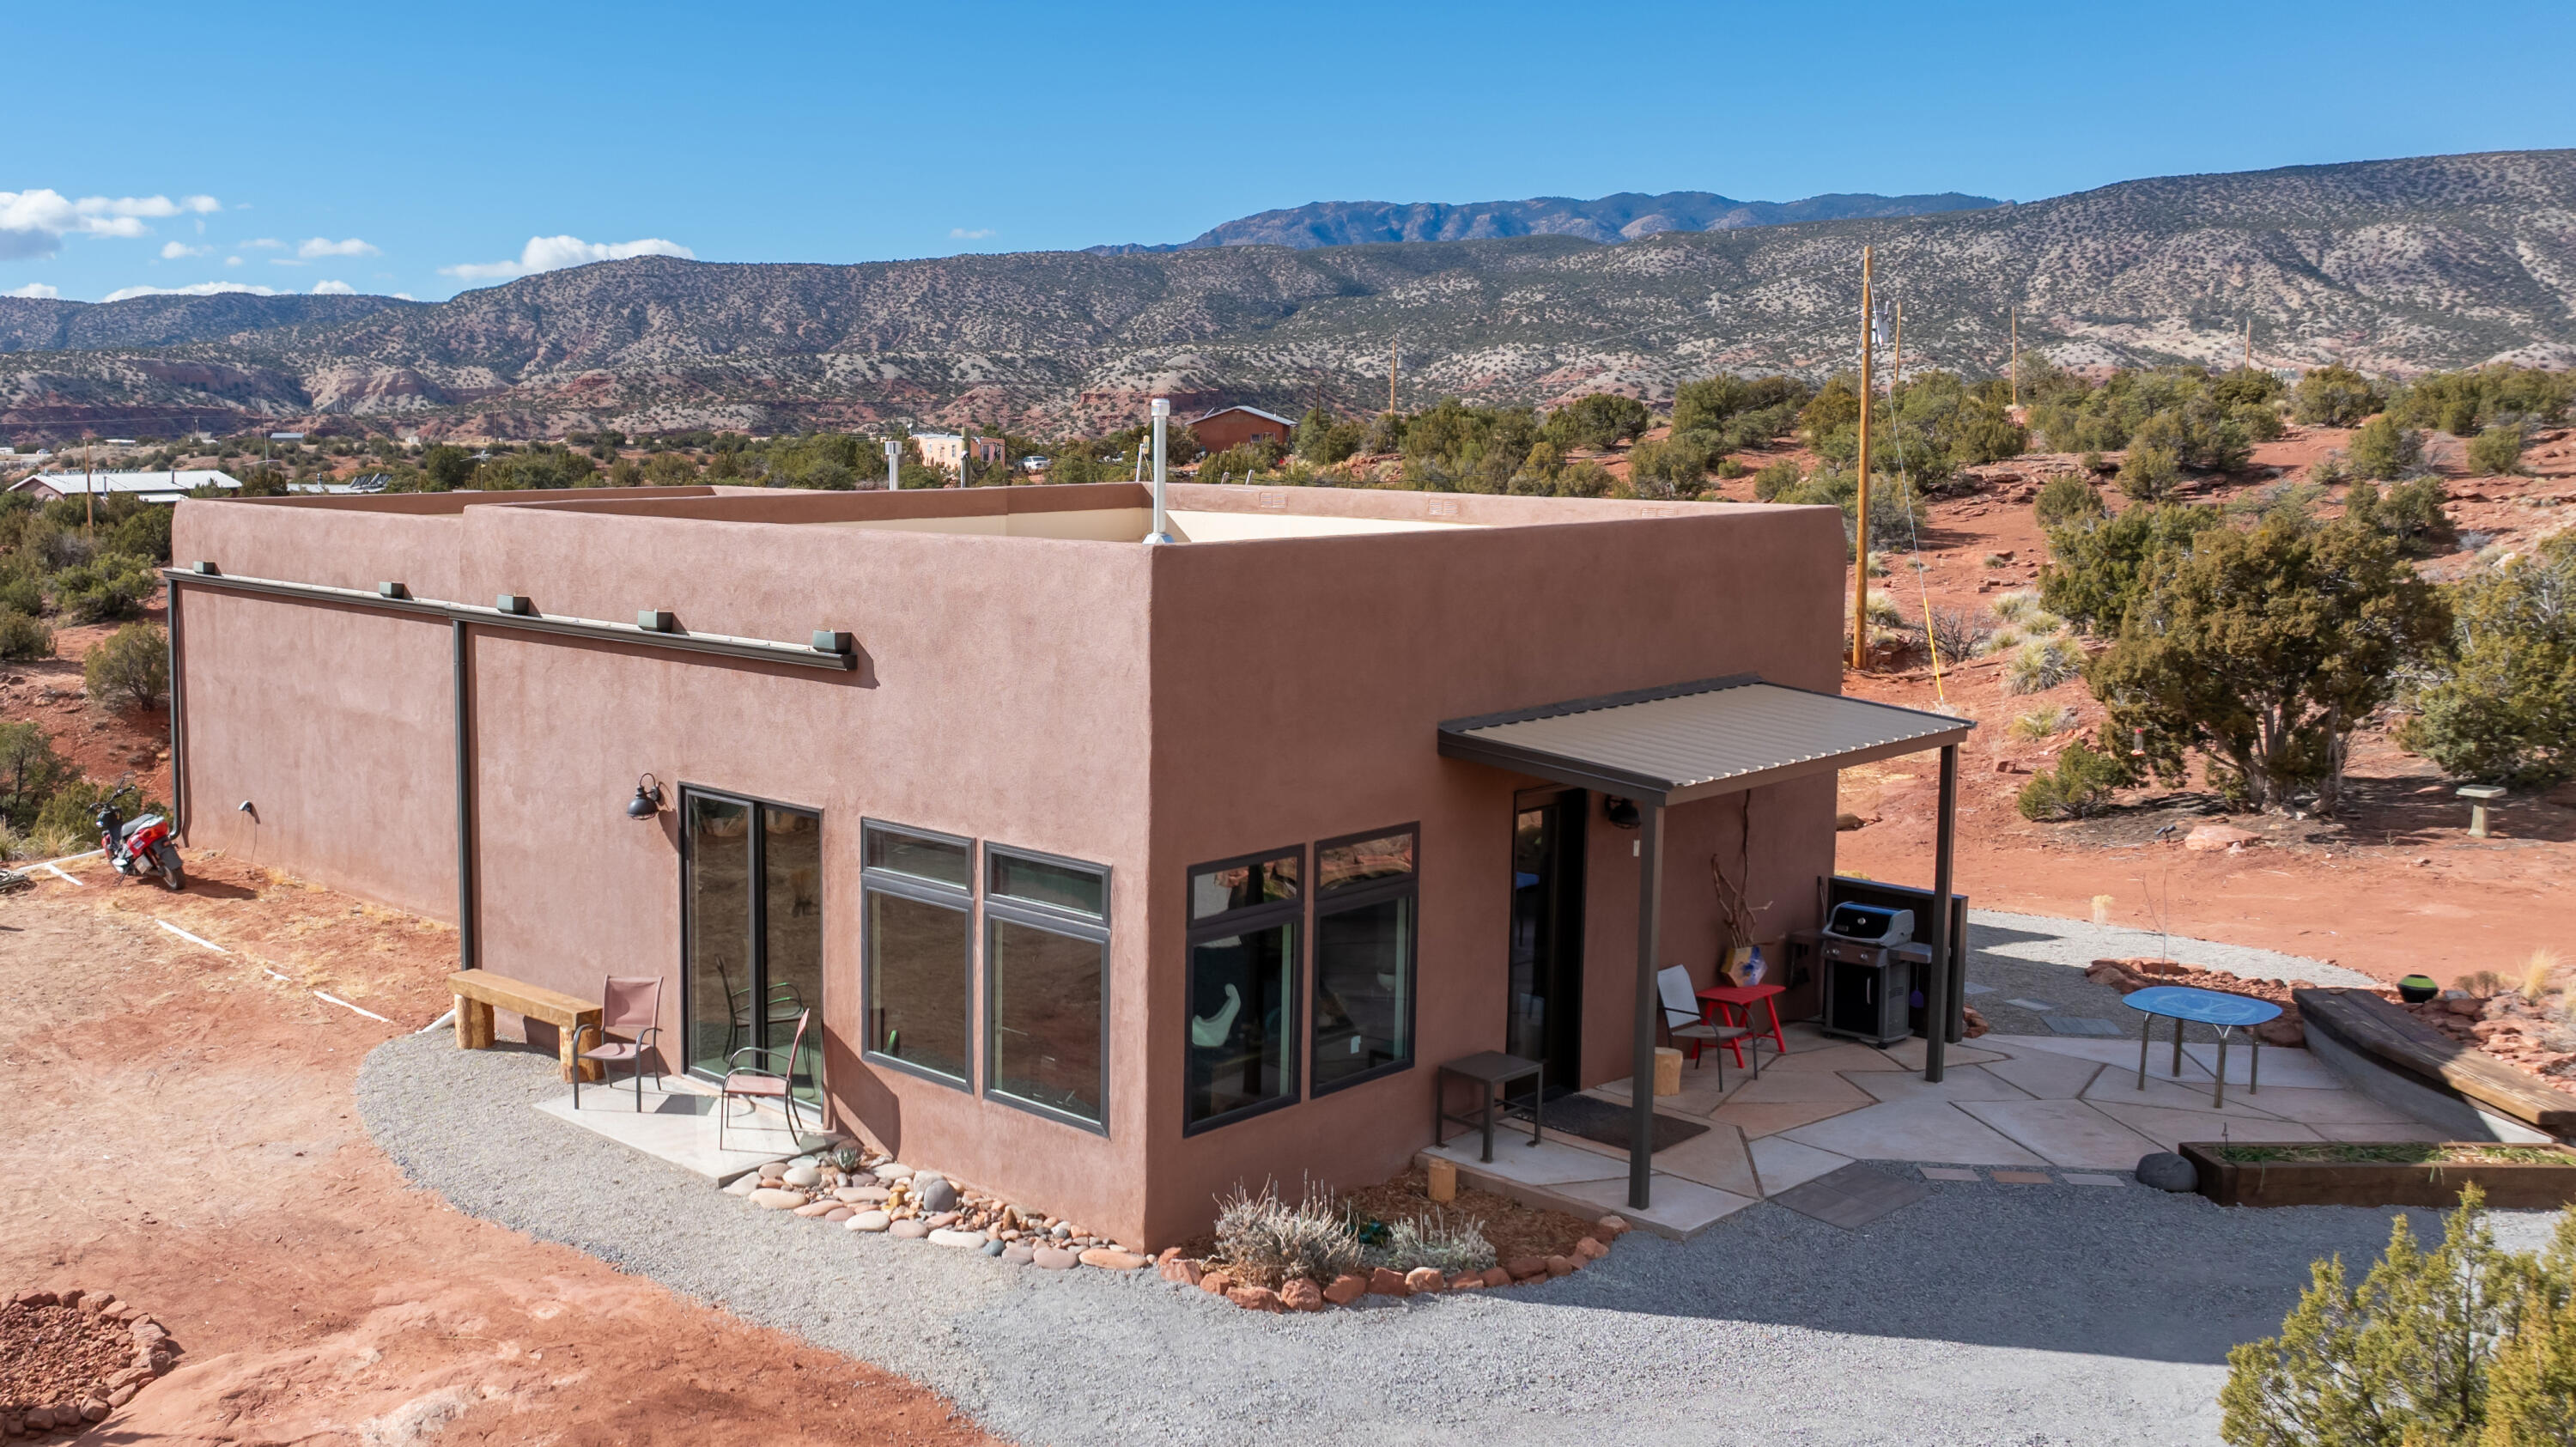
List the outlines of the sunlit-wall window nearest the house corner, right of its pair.
{"type": "Polygon", "coordinates": [[[984,847],[984,1089],[1108,1125],[1110,873],[984,847]]]}

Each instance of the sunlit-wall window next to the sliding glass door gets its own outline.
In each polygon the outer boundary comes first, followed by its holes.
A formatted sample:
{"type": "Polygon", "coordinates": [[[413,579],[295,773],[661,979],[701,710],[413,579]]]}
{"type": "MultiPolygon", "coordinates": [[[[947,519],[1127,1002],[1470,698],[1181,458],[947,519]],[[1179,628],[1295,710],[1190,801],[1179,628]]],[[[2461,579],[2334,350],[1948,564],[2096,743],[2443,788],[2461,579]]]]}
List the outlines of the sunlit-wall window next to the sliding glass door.
{"type": "Polygon", "coordinates": [[[963,1087],[974,1009],[974,842],[863,826],[866,1045],[871,1061],[963,1087]]]}

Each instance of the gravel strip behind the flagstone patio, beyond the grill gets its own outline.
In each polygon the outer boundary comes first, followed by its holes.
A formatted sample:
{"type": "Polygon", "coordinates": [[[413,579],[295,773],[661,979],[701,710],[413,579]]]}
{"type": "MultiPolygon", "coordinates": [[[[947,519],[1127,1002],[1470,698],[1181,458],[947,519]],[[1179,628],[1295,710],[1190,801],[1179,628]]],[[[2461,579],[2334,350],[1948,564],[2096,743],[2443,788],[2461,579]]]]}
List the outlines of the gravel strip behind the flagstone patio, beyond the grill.
{"type": "Polygon", "coordinates": [[[2246,945],[2218,945],[2187,940],[2182,935],[2156,935],[2154,929],[2128,929],[2123,924],[2087,924],[2081,919],[2050,919],[2043,914],[1999,914],[1994,909],[1968,911],[1968,984],[1994,986],[1968,991],[1968,1004],[2004,1035],[2048,1035],[2048,1017],[2110,1020],[2120,1035],[2136,1040],[2146,1017],[2120,1004],[2120,991],[2084,978],[2084,966],[2094,960],[2120,960],[2136,955],[2164,955],[2205,971],[2226,971],[2246,978],[2298,978],[2321,986],[2372,986],[2370,976],[2272,950],[2246,945]],[[2014,999],[2032,999],[2053,1009],[2025,1009],[2014,999]]]}

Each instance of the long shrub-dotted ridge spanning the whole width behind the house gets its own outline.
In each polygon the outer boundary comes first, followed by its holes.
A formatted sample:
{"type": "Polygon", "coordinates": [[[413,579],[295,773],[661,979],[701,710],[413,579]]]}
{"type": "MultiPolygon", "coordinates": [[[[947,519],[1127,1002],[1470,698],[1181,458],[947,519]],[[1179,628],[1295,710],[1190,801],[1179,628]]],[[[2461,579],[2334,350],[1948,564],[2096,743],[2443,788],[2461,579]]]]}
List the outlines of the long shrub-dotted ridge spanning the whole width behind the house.
{"type": "Polygon", "coordinates": [[[958,255],[866,265],[634,257],[440,304],[0,299],[0,440],[343,417],[422,435],[613,425],[1051,433],[1182,407],[1667,397],[1821,376],[1857,342],[1860,250],[1906,366],[2378,371],[2576,363],[2576,152],[2130,180],[1971,211],[1383,245],[958,255]],[[142,306],[142,304],[149,306],[142,306]],[[18,340],[26,337],[26,340],[18,340]]]}

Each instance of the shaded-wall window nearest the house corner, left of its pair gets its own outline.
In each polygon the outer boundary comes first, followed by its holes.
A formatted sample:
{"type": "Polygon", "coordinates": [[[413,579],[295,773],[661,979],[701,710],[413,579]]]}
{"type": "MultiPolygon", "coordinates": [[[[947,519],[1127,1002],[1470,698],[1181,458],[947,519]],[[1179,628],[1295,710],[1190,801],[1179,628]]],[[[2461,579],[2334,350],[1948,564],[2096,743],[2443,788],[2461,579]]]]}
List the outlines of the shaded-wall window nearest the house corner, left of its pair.
{"type": "Polygon", "coordinates": [[[1306,850],[1190,870],[1190,1048],[1182,1130],[1296,1099],[1306,850]]]}

